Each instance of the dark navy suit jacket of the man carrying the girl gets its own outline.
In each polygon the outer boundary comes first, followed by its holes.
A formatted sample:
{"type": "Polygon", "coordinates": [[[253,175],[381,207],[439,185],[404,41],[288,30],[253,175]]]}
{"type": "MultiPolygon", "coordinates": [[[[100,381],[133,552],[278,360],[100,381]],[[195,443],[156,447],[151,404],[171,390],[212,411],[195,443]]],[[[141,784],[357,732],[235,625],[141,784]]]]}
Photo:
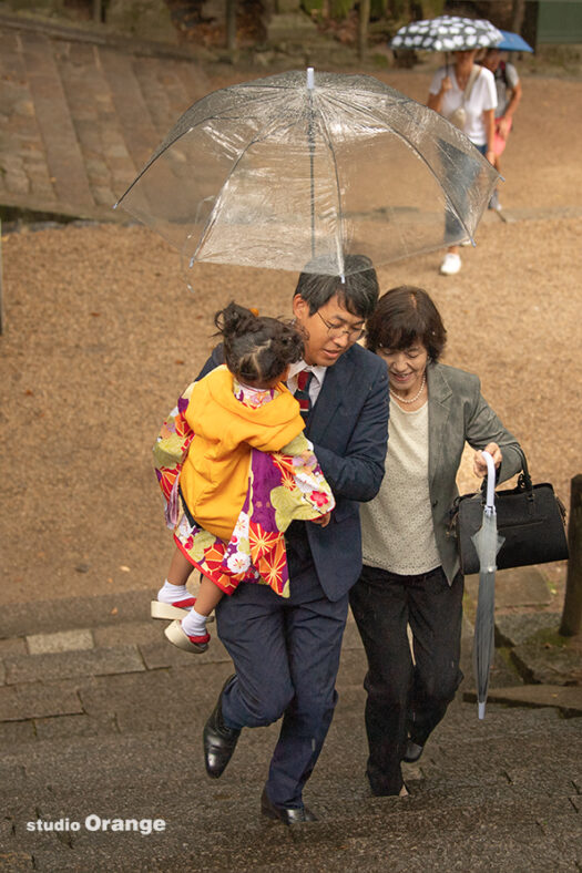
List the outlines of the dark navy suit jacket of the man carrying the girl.
{"type": "MultiPolygon", "coordinates": [[[[217,346],[198,379],[223,362],[222,346],[217,346]]],[[[286,538],[297,551],[302,543],[308,546],[326,597],[339,600],[361,569],[358,504],[376,495],[384,476],[388,441],[386,363],[361,346],[344,352],[327,368],[305,434],[314,443],[331,485],[336,509],[327,527],[293,522],[286,538]]]]}

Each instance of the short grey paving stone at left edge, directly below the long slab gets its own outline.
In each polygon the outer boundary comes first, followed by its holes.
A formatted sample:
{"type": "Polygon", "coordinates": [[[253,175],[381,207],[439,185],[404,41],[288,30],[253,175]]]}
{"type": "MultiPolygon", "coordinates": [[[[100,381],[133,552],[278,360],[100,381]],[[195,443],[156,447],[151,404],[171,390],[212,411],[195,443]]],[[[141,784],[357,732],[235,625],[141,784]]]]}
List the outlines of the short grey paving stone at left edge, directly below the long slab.
{"type": "Polygon", "coordinates": [[[22,721],[82,711],[76,691],[68,686],[30,684],[0,688],[0,721],[22,721]]]}

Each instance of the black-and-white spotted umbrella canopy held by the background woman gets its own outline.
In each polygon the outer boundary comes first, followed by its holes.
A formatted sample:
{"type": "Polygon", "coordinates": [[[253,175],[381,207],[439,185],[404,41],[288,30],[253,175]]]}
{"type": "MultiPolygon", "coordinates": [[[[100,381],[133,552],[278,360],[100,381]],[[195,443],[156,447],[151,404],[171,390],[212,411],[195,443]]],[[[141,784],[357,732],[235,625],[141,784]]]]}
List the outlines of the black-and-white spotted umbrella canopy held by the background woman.
{"type": "Polygon", "coordinates": [[[497,45],[501,32],[486,19],[440,16],[411,21],[400,28],[390,47],[430,52],[472,51],[497,45]]]}

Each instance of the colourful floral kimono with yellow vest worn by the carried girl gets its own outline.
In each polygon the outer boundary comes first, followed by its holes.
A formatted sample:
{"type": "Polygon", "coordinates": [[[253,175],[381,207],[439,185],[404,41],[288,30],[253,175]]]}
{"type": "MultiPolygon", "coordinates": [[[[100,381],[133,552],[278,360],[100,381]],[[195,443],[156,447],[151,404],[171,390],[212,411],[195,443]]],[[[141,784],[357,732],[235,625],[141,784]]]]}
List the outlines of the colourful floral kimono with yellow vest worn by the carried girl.
{"type": "Polygon", "coordinates": [[[285,386],[242,386],[225,367],[188,386],[162,425],[154,463],[166,522],[225,594],[255,582],[288,597],[284,532],[335,506],[303,429],[285,386]]]}

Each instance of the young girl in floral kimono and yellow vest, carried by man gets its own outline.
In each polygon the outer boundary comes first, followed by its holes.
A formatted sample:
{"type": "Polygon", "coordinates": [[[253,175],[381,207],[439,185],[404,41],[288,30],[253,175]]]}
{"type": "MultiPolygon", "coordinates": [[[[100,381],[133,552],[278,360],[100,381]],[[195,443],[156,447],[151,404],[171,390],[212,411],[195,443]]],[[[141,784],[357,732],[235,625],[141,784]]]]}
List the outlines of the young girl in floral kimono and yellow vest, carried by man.
{"type": "Polygon", "coordinates": [[[152,616],[175,618],[167,639],[193,653],[205,651],[211,612],[241,582],[288,597],[284,531],[294,518],[326,525],[335,505],[299,403],[284,384],[289,364],[302,359],[300,335],[234,302],[214,322],[226,366],[184,392],[154,448],[166,517],[177,524],[152,616]],[[188,439],[183,465],[169,464],[172,442],[188,439]],[[202,573],[197,598],[186,589],[194,567],[202,573]]]}

